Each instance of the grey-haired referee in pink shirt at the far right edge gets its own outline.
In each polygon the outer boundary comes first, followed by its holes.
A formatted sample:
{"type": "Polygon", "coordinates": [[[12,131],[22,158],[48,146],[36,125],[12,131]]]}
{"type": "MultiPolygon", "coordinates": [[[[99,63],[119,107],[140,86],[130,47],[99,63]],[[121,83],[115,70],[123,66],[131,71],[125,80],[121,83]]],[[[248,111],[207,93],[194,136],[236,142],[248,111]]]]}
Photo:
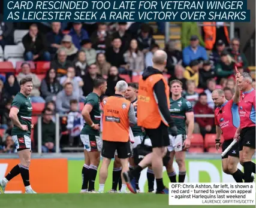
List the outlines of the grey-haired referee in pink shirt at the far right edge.
{"type": "Polygon", "coordinates": [[[240,126],[234,136],[239,140],[240,135],[240,163],[244,167],[245,183],[251,182],[251,174],[255,173],[255,163],[252,156],[255,153],[255,90],[252,88],[252,77],[246,72],[238,79],[241,91],[239,102],[240,126]]]}

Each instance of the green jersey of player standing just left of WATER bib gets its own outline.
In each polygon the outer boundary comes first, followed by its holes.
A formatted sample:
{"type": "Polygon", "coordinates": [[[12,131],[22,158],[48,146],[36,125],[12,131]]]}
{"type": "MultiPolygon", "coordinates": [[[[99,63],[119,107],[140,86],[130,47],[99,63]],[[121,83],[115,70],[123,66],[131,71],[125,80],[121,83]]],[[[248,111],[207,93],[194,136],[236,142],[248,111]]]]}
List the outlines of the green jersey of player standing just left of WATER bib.
{"type": "MultiPolygon", "coordinates": [[[[101,109],[100,109],[100,97],[96,93],[90,93],[85,98],[85,105],[91,105],[92,111],[90,113],[91,120],[94,124],[100,124],[101,109]]],[[[81,134],[100,136],[100,131],[92,129],[87,123],[83,127],[81,134]]]]}

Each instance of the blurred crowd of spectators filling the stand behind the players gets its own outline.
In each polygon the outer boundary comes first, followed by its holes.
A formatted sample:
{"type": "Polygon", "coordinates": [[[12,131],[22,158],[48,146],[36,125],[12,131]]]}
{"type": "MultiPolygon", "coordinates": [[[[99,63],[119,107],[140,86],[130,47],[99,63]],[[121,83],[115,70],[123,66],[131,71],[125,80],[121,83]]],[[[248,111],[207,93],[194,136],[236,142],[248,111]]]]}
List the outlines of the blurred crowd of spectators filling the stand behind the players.
{"type": "MultiPolygon", "coordinates": [[[[211,94],[216,88],[222,88],[227,99],[232,98],[235,66],[241,74],[249,72],[248,61],[239,50],[239,39],[230,40],[223,27],[216,32],[214,41],[209,41],[211,27],[214,26],[206,26],[201,36],[195,29],[196,23],[183,23],[182,51],[172,40],[164,48],[168,55],[165,77],[169,82],[179,79],[183,83],[183,97],[192,103],[195,115],[213,114],[215,106],[211,94]]],[[[55,151],[56,112],[63,115],[61,145],[82,145],[79,134],[84,121],[80,110],[93,89],[93,80],[96,77],[107,79],[108,96],[115,93],[115,85],[122,79],[137,82],[144,69],[152,66],[153,53],[159,48],[152,31],[145,23],[53,22],[52,30],[47,33],[38,30],[34,23],[30,25],[22,38],[25,50],[20,70],[5,74],[0,71],[0,129],[4,131],[0,152],[16,151],[10,136],[12,124],[8,114],[11,101],[20,90],[19,81],[25,77],[33,78],[32,104],[43,105],[42,151],[55,151]],[[39,62],[47,63],[44,74],[35,70],[39,62]]],[[[13,44],[11,37],[13,26],[0,22],[2,50],[13,44]]],[[[37,151],[37,119],[33,118],[32,146],[37,151]]],[[[194,133],[203,137],[216,133],[214,118],[196,117],[194,133]]]]}

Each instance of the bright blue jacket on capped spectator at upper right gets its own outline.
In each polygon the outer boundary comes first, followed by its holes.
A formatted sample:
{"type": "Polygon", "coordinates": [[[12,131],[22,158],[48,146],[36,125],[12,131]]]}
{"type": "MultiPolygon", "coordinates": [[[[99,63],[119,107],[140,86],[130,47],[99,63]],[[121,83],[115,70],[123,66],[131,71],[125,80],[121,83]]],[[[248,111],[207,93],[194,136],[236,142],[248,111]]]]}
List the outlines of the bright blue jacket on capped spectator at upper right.
{"type": "Polygon", "coordinates": [[[185,66],[188,66],[192,60],[197,60],[197,59],[208,60],[206,49],[204,47],[201,47],[200,45],[197,46],[197,51],[193,51],[191,46],[189,45],[188,47],[183,49],[182,53],[183,53],[183,64],[185,66]]]}

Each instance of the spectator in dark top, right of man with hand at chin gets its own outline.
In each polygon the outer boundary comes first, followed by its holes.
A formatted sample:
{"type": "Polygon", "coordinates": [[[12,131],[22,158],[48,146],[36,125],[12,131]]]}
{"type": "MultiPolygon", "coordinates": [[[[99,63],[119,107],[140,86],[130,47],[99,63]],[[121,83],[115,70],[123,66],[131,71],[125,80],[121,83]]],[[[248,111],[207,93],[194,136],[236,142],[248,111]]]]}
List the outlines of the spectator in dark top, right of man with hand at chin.
{"type": "Polygon", "coordinates": [[[61,48],[61,41],[63,39],[60,22],[52,22],[52,31],[46,34],[48,43],[48,51],[51,54],[52,60],[55,58],[59,48],[61,48]]]}

